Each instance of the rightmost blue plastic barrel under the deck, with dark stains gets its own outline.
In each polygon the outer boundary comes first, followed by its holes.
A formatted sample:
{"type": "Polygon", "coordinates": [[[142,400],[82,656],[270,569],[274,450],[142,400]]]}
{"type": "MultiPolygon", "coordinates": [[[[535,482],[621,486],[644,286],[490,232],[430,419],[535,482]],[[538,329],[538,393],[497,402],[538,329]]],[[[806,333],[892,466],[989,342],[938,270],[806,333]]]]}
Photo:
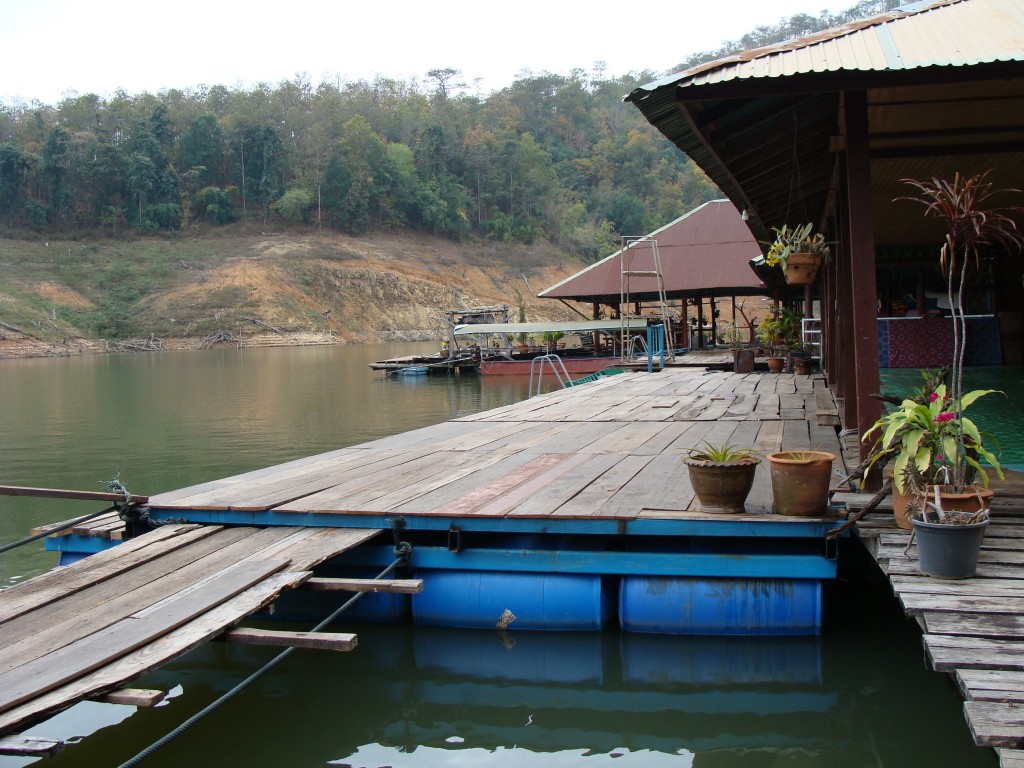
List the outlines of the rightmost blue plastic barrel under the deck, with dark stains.
{"type": "Polygon", "coordinates": [[[626,632],[676,635],[818,635],[821,582],[810,579],[624,577],[626,632]]]}

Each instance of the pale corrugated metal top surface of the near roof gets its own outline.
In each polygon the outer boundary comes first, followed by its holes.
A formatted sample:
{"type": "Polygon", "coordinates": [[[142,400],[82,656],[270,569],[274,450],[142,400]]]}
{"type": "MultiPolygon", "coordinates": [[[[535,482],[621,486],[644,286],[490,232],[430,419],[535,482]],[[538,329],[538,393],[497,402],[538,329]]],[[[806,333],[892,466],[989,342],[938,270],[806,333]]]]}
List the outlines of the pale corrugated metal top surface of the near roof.
{"type": "Polygon", "coordinates": [[[1024,0],[942,0],[756,48],[640,86],[677,88],[809,73],[911,70],[1024,60],[1024,0]]]}

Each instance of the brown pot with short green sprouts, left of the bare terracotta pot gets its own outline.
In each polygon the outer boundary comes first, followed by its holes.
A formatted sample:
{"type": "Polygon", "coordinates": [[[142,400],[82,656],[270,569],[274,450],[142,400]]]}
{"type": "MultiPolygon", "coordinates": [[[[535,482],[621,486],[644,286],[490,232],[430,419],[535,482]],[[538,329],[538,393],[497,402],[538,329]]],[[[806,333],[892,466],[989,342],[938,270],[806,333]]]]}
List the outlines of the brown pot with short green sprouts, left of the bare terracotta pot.
{"type": "Polygon", "coordinates": [[[760,457],[750,449],[712,444],[690,449],[683,458],[690,484],[705,512],[742,512],[760,457]]]}

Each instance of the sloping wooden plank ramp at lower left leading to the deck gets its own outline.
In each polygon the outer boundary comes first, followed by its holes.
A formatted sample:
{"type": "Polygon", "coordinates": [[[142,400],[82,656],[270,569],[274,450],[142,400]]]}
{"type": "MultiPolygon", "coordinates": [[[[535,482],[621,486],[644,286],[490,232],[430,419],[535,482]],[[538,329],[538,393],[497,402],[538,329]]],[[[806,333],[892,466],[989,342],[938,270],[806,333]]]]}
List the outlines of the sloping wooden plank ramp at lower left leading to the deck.
{"type": "Polygon", "coordinates": [[[217,637],[379,532],[171,524],[0,592],[0,735],[217,637]]]}

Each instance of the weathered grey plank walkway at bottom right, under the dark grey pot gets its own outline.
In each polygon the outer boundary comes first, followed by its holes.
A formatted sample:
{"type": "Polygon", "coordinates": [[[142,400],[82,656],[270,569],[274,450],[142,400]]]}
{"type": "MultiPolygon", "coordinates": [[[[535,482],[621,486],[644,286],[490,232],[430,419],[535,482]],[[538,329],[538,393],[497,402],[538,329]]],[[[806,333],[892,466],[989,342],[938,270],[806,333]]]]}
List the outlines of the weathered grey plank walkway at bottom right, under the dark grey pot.
{"type": "Polygon", "coordinates": [[[857,528],[921,626],[932,666],[955,680],[975,742],[995,748],[1004,768],[1024,768],[1024,474],[1009,472],[992,486],[992,522],[974,579],[922,575],[916,547],[905,552],[909,532],[883,511],[857,528]]]}

